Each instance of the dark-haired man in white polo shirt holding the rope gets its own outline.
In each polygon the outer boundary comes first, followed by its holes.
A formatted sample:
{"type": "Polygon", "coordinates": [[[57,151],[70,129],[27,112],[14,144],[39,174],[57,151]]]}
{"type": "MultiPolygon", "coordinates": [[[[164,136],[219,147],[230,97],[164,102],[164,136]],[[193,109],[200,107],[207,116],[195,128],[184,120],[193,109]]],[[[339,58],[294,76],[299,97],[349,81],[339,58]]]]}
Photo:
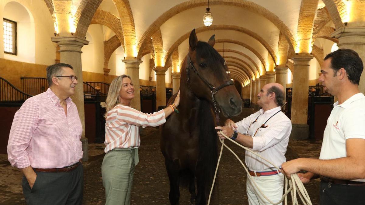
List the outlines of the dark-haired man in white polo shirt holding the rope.
{"type": "Polygon", "coordinates": [[[319,159],[283,163],[287,176],[300,170],[303,183],[321,176],[321,205],[365,204],[365,96],[358,84],[363,70],[359,55],[339,49],[324,58],[319,81],[338,98],[327,120],[319,159]]]}

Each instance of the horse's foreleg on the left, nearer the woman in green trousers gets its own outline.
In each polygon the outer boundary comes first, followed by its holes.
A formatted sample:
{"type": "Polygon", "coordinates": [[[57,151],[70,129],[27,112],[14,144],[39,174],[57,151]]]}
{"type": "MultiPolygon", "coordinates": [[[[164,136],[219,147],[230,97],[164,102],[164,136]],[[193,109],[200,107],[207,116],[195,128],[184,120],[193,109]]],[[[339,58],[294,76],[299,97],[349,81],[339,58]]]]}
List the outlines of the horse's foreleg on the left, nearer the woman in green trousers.
{"type": "Polygon", "coordinates": [[[168,162],[167,160],[165,160],[166,171],[170,180],[169,200],[171,205],[178,204],[180,198],[180,190],[179,190],[180,177],[179,177],[179,169],[176,165],[177,163],[176,160],[174,160],[174,162],[168,162]]]}

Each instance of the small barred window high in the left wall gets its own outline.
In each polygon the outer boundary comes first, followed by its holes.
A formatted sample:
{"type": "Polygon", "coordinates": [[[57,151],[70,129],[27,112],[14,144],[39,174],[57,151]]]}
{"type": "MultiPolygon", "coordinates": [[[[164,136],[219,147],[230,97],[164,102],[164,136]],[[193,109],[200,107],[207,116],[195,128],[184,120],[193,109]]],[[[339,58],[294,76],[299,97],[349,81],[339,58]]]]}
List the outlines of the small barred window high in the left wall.
{"type": "Polygon", "coordinates": [[[17,45],[16,45],[16,22],[3,19],[3,27],[4,27],[4,53],[8,54],[17,54],[17,45]]]}

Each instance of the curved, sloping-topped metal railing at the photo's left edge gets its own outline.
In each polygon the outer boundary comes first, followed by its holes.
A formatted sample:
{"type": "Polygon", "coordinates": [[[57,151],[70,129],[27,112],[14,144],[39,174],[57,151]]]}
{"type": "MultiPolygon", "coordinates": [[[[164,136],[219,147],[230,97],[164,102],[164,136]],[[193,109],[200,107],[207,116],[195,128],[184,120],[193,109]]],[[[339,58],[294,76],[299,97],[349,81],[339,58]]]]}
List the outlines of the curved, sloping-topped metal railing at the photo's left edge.
{"type": "Polygon", "coordinates": [[[0,103],[8,104],[8,103],[23,103],[28,98],[33,95],[24,93],[22,90],[19,90],[14,85],[12,85],[9,81],[0,77],[0,103]]]}

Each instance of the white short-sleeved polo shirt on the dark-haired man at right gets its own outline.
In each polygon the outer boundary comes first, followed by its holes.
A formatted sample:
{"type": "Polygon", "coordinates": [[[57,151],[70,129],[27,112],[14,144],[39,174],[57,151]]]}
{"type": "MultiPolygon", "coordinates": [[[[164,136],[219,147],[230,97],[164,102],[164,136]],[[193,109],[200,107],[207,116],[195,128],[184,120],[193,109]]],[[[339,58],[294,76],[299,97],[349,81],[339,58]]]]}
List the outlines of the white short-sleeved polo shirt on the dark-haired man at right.
{"type": "MultiPolygon", "coordinates": [[[[346,157],[346,140],[365,139],[365,96],[357,93],[343,102],[333,104],[324,129],[322,149],[319,159],[337,159],[346,157]]],[[[353,181],[365,181],[356,179],[353,181]]]]}

